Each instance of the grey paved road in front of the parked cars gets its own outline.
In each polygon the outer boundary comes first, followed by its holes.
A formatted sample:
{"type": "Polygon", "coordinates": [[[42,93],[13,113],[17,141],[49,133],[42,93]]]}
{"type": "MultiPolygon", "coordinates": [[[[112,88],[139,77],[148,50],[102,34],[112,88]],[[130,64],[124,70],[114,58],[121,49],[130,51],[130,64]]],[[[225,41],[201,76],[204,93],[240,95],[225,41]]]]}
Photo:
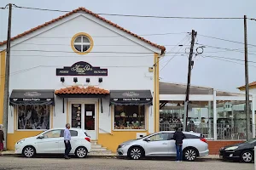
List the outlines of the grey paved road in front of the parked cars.
{"type": "Polygon", "coordinates": [[[131,169],[161,169],[161,170],[253,170],[253,163],[236,163],[224,161],[154,161],[154,160],[123,160],[123,159],[77,159],[63,158],[23,158],[0,157],[0,170],[131,170],[131,169]]]}

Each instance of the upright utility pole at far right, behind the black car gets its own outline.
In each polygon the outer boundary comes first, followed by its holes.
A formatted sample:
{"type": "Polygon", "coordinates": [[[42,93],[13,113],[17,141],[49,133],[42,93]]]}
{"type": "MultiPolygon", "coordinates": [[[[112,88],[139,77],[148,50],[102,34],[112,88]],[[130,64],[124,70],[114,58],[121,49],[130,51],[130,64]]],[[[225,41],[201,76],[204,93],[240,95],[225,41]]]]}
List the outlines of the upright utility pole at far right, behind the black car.
{"type": "MultiPolygon", "coordinates": [[[[244,15],[244,61],[245,61],[245,82],[246,82],[246,116],[247,116],[247,140],[251,139],[251,118],[249,104],[249,78],[248,78],[248,53],[247,53],[247,15],[244,15]]],[[[253,113],[254,114],[254,113],[253,113]]]]}

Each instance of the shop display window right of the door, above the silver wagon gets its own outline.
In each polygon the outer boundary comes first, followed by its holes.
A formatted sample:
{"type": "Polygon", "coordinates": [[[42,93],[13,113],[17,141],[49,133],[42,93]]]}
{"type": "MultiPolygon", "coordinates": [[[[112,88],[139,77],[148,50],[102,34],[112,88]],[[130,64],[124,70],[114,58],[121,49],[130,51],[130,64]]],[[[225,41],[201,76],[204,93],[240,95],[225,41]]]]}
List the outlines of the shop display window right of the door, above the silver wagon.
{"type": "Polygon", "coordinates": [[[114,129],[145,129],[145,106],[115,105],[114,129]]]}

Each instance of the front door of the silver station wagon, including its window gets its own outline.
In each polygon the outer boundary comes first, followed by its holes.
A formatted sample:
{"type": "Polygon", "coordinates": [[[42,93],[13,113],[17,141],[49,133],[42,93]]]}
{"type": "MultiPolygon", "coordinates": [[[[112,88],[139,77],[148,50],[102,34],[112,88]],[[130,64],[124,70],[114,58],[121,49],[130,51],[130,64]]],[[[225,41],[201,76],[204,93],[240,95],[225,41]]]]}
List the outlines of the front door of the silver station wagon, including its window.
{"type": "Polygon", "coordinates": [[[171,133],[157,133],[145,139],[146,156],[170,156],[171,133]]]}

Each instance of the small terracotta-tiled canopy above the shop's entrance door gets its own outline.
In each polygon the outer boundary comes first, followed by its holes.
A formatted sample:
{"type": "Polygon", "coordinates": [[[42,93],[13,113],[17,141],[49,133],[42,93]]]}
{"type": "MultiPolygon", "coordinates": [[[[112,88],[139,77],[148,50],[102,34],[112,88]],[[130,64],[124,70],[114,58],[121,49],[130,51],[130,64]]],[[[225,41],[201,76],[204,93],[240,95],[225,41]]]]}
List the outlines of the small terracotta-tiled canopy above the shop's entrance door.
{"type": "Polygon", "coordinates": [[[94,86],[89,86],[87,88],[72,86],[69,88],[55,90],[55,94],[109,94],[109,91],[102,88],[96,88],[94,86]]]}

